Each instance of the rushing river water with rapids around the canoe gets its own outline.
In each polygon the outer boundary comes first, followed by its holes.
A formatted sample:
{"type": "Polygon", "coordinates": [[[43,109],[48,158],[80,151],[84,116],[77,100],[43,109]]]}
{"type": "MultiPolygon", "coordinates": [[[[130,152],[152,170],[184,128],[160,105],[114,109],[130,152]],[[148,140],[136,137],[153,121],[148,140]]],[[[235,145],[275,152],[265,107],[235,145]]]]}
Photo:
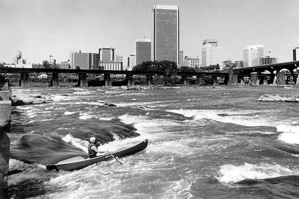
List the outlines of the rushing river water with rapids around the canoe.
{"type": "Polygon", "coordinates": [[[44,104],[12,107],[11,198],[299,198],[299,106],[257,101],[298,87],[119,90],[12,88],[44,104]],[[137,101],[132,101],[132,98],[137,101]],[[101,108],[104,103],[117,107],[101,108]],[[139,135],[139,136],[137,136],[139,135]],[[67,172],[45,164],[148,138],[137,154],[67,172]]]}

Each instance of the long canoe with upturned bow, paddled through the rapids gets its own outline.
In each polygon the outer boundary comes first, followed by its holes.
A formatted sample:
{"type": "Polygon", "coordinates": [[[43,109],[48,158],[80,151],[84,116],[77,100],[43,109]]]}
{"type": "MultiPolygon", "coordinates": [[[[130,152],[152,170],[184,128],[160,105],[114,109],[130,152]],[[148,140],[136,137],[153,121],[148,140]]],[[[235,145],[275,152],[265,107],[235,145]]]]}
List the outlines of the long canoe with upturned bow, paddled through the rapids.
{"type": "Polygon", "coordinates": [[[63,161],[60,161],[56,164],[50,164],[46,165],[46,168],[49,170],[55,169],[56,171],[73,171],[82,169],[86,166],[93,165],[98,162],[111,160],[114,157],[124,157],[130,154],[138,153],[142,150],[144,150],[147,147],[148,141],[147,139],[141,142],[138,142],[130,147],[123,147],[120,149],[117,149],[114,152],[110,152],[108,155],[101,155],[95,158],[86,158],[84,157],[72,157],[63,161]],[[112,156],[112,155],[114,156],[112,156]]]}

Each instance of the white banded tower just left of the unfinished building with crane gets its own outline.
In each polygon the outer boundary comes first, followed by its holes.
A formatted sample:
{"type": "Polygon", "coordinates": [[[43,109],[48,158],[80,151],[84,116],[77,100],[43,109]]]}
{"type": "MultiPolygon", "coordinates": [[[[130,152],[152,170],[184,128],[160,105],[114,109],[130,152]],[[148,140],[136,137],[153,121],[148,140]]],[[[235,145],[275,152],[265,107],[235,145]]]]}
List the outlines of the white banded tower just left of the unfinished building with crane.
{"type": "Polygon", "coordinates": [[[244,67],[259,65],[259,48],[256,45],[249,45],[243,50],[244,67]]]}

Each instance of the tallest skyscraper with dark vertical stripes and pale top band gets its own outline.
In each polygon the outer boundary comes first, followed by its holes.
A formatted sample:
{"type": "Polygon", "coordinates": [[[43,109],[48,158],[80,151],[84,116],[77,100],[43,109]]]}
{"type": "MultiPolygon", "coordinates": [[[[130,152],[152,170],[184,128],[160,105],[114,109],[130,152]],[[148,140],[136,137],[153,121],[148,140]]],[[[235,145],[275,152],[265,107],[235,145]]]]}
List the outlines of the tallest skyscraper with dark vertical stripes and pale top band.
{"type": "Polygon", "coordinates": [[[152,60],[179,63],[178,6],[154,5],[152,10],[152,60]]]}

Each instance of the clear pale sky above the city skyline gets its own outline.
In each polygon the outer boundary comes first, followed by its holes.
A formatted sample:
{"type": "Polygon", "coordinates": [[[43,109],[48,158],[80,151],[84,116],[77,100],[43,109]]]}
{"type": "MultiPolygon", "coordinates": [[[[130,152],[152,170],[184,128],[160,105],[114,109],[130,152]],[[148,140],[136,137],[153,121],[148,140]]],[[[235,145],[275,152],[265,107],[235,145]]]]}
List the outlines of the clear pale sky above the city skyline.
{"type": "Polygon", "coordinates": [[[126,63],[135,38],[151,39],[153,5],[179,6],[179,49],[199,56],[204,39],[217,39],[223,61],[263,44],[264,55],[293,61],[299,47],[299,0],[0,0],[0,62],[16,51],[27,63],[67,61],[69,51],[115,48],[126,63]]]}

